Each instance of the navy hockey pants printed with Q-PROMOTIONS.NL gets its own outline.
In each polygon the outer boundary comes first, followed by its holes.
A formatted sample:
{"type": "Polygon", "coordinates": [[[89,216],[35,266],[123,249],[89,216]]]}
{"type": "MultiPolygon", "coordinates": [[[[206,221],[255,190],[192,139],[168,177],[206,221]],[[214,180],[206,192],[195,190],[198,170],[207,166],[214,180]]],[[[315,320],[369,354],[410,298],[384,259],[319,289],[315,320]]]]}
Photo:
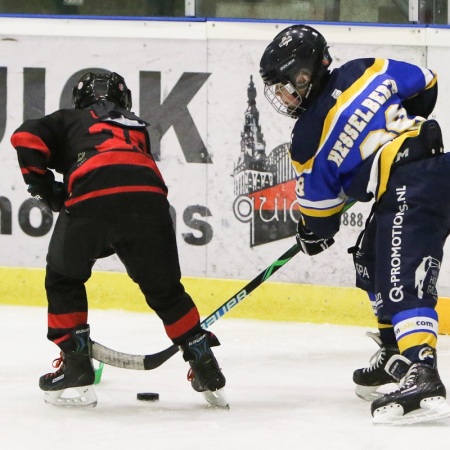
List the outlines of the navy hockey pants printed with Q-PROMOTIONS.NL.
{"type": "Polygon", "coordinates": [[[379,320],[435,308],[449,231],[450,154],[395,168],[354,254],[356,285],[375,294],[379,320]]]}

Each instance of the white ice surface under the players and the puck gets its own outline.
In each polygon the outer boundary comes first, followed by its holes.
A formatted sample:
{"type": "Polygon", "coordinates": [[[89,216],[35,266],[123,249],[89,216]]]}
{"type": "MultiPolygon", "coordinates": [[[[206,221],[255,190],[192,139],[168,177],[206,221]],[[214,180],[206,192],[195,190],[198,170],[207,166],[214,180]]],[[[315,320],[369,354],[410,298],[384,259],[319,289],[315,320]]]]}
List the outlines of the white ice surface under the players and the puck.
{"type": "MultiPolygon", "coordinates": [[[[450,421],[415,426],[372,424],[370,403],[354,394],[352,372],[377,350],[351,326],[222,319],[211,331],[227,378],[230,410],[194,392],[176,354],[153,371],[106,366],[96,408],[44,403],[38,378],[53,371],[45,308],[0,306],[0,445],[8,450],[415,450],[446,448],[450,421]],[[158,392],[140,402],[138,392],[158,392]]],[[[91,336],[116,350],[153,353],[170,345],[154,314],[92,310],[91,336]]],[[[375,330],[373,330],[375,331],[375,330]]],[[[450,336],[438,342],[441,377],[450,387],[450,336]]]]}

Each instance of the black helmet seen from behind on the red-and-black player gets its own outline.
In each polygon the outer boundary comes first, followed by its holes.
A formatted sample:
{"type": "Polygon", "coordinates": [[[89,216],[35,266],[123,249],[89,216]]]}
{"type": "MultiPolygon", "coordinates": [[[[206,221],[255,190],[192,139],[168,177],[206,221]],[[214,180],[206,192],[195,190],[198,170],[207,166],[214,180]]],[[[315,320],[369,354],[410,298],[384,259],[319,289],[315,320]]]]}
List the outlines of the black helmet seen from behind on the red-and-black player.
{"type": "Polygon", "coordinates": [[[97,100],[108,100],[117,106],[131,109],[131,91],[122,76],[111,73],[85,73],[73,87],[72,100],[75,108],[81,109],[97,100]]]}

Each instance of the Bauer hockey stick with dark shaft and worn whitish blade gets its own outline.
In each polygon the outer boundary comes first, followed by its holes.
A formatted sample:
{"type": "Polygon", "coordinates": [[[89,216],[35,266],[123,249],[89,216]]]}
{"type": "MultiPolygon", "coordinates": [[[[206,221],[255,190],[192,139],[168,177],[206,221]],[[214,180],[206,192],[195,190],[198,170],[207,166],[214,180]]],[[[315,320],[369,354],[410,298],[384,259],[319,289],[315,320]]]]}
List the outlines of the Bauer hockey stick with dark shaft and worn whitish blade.
{"type": "MultiPolygon", "coordinates": [[[[356,203],[355,200],[349,199],[343,209],[343,212],[347,211],[351,206],[356,203]]],[[[288,261],[290,261],[298,252],[300,252],[300,246],[297,242],[285,253],[283,253],[276,261],[274,261],[269,267],[263,270],[257,277],[247,283],[240,291],[238,291],[233,297],[228,299],[222,306],[217,308],[206,319],[201,322],[203,328],[210,327],[214,322],[219,320],[222,316],[228,313],[232,308],[238,305],[244,298],[246,298],[251,292],[259,287],[264,281],[269,279],[276,271],[283,267],[288,261]]],[[[164,364],[179,350],[178,346],[171,345],[165,350],[149,354],[149,355],[131,355],[128,353],[118,352],[105,347],[98,342],[91,340],[91,355],[97,361],[109,364],[111,366],[121,367],[123,369],[134,370],[152,370],[164,364]]]]}

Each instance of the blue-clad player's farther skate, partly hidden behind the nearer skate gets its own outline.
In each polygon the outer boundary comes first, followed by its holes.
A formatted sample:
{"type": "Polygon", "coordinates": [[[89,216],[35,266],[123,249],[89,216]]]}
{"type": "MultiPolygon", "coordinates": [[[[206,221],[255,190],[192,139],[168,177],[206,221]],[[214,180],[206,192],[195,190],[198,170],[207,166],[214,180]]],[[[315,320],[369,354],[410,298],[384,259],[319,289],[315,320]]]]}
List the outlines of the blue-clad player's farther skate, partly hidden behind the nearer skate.
{"type": "Polygon", "coordinates": [[[370,359],[369,367],[353,372],[353,382],[356,384],[356,395],[364,400],[372,401],[383,395],[378,392],[379,388],[387,384],[398,383],[399,379],[386,372],[385,367],[392,356],[399,354],[399,350],[396,345],[384,345],[378,333],[368,331],[366,335],[371,337],[380,349],[370,359]]]}

